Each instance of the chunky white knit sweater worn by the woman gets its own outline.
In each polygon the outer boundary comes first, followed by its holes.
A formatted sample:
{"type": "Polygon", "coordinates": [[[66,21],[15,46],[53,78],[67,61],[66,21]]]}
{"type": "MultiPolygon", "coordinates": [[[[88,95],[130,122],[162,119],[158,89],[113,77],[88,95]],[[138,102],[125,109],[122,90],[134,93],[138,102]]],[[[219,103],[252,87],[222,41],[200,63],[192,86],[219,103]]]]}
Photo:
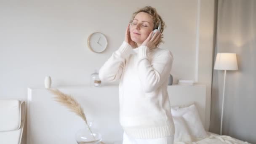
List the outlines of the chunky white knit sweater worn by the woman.
{"type": "Polygon", "coordinates": [[[173,56],[147,46],[133,49],[126,42],[99,70],[102,81],[120,80],[120,124],[136,139],[156,139],[175,133],[167,92],[173,56]]]}

